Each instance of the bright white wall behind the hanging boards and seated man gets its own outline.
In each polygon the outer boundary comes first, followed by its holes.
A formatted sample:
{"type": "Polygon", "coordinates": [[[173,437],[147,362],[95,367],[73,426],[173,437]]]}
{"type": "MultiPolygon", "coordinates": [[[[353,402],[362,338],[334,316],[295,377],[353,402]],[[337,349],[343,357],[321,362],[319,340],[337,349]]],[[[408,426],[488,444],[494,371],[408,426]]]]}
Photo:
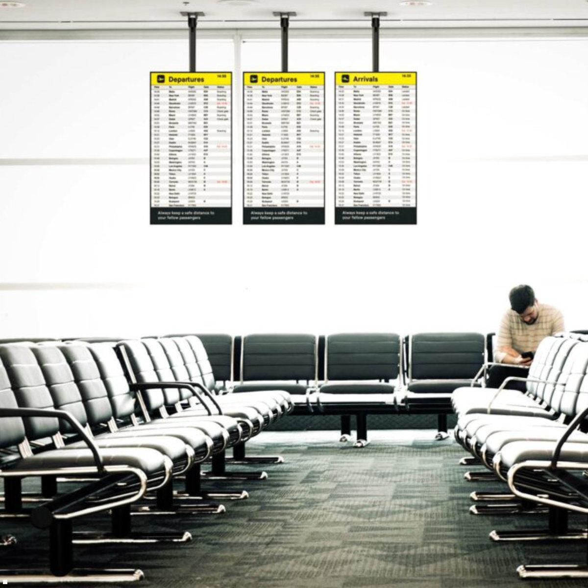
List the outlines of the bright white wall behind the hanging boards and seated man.
{"type": "MultiPolygon", "coordinates": [[[[278,42],[239,48],[279,69],[278,42]]],[[[371,55],[336,39],[290,45],[327,73],[327,225],[243,226],[234,49],[198,44],[235,71],[235,222],[149,226],[148,73],[187,42],[0,43],[0,338],[494,330],[521,282],[588,327],[588,41],[382,42],[382,71],[418,72],[417,226],[333,225],[332,72],[371,55]]]]}

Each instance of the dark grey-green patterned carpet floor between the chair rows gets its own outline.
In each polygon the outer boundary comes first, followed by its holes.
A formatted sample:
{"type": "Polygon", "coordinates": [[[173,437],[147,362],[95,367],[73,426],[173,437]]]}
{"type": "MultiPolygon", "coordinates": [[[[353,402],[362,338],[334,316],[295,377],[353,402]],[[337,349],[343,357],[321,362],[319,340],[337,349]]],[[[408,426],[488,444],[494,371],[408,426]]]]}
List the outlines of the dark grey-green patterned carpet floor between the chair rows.
{"type": "MultiPolygon", "coordinates": [[[[334,431],[263,433],[248,444],[249,453],[280,454],[285,463],[266,466],[263,482],[216,486],[245,487],[248,500],[225,502],[224,515],[133,521],[136,531],[189,530],[191,543],[76,547],[76,563],[139,567],[143,586],[173,588],[506,588],[523,584],[515,573],[520,563],[586,561],[584,542],[491,542],[492,529],[542,528],[545,520],[469,515],[472,490],[502,486],[463,480],[466,468],[457,465],[463,449],[452,439],[436,442],[434,434],[374,430],[368,447],[354,449],[334,431]]],[[[585,519],[570,522],[582,526],[585,519]]],[[[46,533],[6,522],[0,532],[19,539],[0,552],[1,567],[46,564],[46,533]]]]}

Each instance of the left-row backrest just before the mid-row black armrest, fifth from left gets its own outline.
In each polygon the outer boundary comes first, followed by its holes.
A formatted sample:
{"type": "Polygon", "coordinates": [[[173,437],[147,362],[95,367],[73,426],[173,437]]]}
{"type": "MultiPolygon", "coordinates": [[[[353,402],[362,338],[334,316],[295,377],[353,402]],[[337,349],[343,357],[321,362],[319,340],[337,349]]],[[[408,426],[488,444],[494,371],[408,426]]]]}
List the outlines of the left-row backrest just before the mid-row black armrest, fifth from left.
{"type": "MultiPolygon", "coordinates": [[[[88,350],[96,362],[116,419],[127,419],[136,408],[136,396],[126,379],[125,370],[111,343],[90,343],[88,350]]],[[[163,395],[159,392],[159,395],[163,395]]]]}

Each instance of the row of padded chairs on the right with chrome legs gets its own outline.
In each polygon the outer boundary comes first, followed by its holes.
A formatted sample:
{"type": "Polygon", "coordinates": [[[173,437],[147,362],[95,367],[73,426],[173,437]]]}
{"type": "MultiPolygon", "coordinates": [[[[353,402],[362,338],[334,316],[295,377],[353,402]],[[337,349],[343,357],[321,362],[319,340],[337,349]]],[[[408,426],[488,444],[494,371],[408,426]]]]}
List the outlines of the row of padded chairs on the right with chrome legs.
{"type": "MultiPolygon", "coordinates": [[[[465,464],[472,481],[500,481],[500,492],[474,492],[476,515],[546,517],[546,528],[493,530],[497,542],[588,541],[584,525],[569,528],[569,513],[588,514],[588,338],[561,333],[544,339],[528,373],[515,376],[526,391],[477,390],[453,393],[458,417],[455,437],[471,454],[465,464]]],[[[522,564],[526,578],[588,577],[582,564],[522,564]]]]}

